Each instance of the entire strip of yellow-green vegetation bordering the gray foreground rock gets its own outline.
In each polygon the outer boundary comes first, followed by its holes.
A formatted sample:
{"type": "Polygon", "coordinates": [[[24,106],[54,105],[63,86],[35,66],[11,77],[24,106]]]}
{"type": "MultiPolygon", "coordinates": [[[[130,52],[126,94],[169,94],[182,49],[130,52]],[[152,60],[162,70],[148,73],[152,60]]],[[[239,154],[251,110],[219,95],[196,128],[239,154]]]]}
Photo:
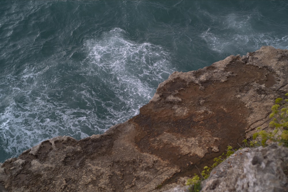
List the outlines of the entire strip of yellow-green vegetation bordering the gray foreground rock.
{"type": "MultiPolygon", "coordinates": [[[[286,93],[285,96],[288,96],[288,93],[286,93]]],[[[272,120],[270,121],[269,125],[274,128],[273,131],[267,132],[265,130],[261,130],[254,133],[253,140],[249,142],[247,139],[243,140],[243,147],[259,147],[261,145],[265,147],[267,146],[267,141],[278,142],[279,145],[288,147],[288,99],[277,98],[275,100],[275,104],[271,108],[271,111],[272,113],[269,117],[272,120]],[[257,140],[256,138],[259,139],[257,140]]],[[[257,129],[259,130],[261,128],[257,129]]],[[[207,179],[210,176],[211,170],[237,151],[237,149],[234,150],[232,146],[227,146],[226,151],[227,152],[222,153],[221,156],[214,158],[214,164],[212,166],[204,167],[204,170],[200,174],[201,178],[198,174],[194,174],[192,178],[187,180],[186,185],[191,185],[191,192],[199,192],[201,190],[201,181],[207,179]]]]}

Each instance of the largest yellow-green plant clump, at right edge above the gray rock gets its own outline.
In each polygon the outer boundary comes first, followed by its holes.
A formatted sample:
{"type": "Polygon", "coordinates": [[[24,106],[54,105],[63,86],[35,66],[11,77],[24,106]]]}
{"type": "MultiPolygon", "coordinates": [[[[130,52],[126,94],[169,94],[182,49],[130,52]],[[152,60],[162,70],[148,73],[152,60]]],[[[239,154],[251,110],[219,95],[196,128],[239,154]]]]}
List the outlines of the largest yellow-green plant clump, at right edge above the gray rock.
{"type": "MultiPolygon", "coordinates": [[[[288,96],[288,93],[285,94],[288,96]]],[[[272,113],[269,117],[272,119],[269,126],[274,130],[267,132],[261,130],[253,134],[253,140],[257,137],[261,139],[261,145],[265,147],[267,141],[279,142],[280,145],[288,147],[288,99],[277,98],[271,108],[272,113]]],[[[260,129],[260,128],[258,128],[260,129]]]]}

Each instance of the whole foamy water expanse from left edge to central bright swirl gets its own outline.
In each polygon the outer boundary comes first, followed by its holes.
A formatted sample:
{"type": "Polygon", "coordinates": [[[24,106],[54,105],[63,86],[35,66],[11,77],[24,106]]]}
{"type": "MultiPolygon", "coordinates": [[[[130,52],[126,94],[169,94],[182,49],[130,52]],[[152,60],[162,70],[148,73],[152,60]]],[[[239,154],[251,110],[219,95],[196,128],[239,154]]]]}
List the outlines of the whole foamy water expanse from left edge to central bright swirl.
{"type": "Polygon", "coordinates": [[[120,28],[80,51],[82,62],[59,53],[0,77],[0,142],[11,157],[54,136],[85,138],[126,121],[175,70],[169,52],[130,41],[120,28]]]}

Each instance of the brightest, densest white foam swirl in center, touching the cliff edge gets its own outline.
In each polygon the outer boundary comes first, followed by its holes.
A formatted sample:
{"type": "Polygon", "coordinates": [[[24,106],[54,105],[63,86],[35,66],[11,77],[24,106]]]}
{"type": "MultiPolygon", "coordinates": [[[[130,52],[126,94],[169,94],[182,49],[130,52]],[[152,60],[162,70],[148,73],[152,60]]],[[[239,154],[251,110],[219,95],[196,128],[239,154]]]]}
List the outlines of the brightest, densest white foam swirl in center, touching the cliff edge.
{"type": "Polygon", "coordinates": [[[162,47],[129,41],[125,33],[114,28],[104,33],[102,39],[86,43],[90,50],[85,61],[90,63],[87,75],[103,79],[102,83],[114,95],[101,105],[114,123],[137,115],[139,108],[153,96],[158,83],[174,70],[169,53],[162,47]]]}

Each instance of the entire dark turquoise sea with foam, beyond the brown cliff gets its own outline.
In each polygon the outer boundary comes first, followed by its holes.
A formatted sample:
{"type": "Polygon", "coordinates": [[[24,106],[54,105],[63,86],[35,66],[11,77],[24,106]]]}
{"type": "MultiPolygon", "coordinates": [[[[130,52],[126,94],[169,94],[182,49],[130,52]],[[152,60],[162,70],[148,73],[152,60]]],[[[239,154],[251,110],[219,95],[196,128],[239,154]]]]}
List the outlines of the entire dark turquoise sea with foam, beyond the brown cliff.
{"type": "Polygon", "coordinates": [[[173,71],[288,47],[287,1],[0,1],[0,162],[139,113],[173,71]]]}

